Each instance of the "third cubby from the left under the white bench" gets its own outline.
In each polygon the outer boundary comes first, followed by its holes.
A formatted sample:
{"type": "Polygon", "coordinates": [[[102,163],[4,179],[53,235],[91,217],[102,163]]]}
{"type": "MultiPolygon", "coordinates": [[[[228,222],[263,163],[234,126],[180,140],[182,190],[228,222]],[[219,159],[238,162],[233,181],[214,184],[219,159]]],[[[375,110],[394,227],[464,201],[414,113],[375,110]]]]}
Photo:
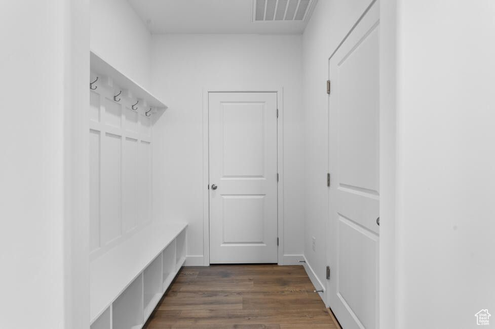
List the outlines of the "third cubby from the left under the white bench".
{"type": "Polygon", "coordinates": [[[144,317],[147,318],[162,298],[162,254],[144,269],[144,317]]]}

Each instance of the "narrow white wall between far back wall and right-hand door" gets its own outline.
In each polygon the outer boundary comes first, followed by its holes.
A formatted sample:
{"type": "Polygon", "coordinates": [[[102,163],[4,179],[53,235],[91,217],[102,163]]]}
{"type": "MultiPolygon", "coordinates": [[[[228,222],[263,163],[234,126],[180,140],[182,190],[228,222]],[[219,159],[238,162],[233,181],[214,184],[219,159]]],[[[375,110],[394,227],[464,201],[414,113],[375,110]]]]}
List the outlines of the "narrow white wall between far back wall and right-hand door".
{"type": "MultiPolygon", "coordinates": [[[[370,0],[319,1],[302,36],[304,112],[304,255],[325,285],[328,220],[328,58],[370,0]],[[316,238],[316,251],[312,238],[316,238]]],[[[326,301],[326,296],[323,297],[326,301]]]]}

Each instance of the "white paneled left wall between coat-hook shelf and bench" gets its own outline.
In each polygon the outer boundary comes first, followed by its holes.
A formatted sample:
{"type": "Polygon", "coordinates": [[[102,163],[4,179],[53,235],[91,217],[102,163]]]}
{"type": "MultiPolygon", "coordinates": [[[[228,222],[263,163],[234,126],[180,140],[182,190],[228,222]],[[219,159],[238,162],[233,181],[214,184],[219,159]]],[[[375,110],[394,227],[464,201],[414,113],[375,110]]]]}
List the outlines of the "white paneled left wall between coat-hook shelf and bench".
{"type": "Polygon", "coordinates": [[[150,119],[142,101],[132,109],[136,99],[125,90],[116,101],[121,89],[111,80],[96,87],[89,107],[92,258],[151,220],[150,119]]]}

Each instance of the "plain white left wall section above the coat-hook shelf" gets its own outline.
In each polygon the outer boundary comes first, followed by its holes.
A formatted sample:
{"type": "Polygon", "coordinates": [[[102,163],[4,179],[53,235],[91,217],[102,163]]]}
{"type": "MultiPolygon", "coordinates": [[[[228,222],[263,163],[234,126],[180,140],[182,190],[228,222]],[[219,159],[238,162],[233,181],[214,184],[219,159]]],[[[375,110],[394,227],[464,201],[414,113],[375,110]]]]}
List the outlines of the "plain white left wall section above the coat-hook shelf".
{"type": "Polygon", "coordinates": [[[90,0],[91,50],[149,88],[151,34],[127,0],[90,0]]]}

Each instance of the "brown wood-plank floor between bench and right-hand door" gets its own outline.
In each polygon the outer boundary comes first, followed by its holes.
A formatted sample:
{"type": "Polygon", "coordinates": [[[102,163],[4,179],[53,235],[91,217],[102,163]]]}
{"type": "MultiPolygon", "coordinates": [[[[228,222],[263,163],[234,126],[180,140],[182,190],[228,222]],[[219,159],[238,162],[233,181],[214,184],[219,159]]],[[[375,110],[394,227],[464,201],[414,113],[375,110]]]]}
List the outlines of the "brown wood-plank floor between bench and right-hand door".
{"type": "Polygon", "coordinates": [[[302,266],[183,267],[145,328],[338,328],[302,266]]]}

